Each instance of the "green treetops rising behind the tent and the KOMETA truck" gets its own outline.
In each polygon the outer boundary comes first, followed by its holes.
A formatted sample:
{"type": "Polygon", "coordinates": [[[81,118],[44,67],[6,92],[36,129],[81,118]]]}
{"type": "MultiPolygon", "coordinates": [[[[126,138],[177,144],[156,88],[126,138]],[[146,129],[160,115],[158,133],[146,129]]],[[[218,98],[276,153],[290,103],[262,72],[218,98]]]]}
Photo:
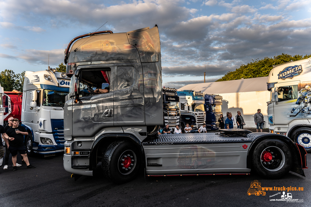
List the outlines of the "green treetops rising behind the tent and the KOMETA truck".
{"type": "Polygon", "coordinates": [[[273,58],[265,57],[261,60],[253,60],[253,62],[248,64],[242,64],[235,71],[229,71],[221,79],[216,81],[225,80],[239,80],[239,79],[251,79],[269,76],[270,71],[273,69],[273,65],[288,63],[290,61],[299,61],[303,59],[308,59],[310,55],[288,55],[282,53],[281,55],[274,56],[273,58]]]}

